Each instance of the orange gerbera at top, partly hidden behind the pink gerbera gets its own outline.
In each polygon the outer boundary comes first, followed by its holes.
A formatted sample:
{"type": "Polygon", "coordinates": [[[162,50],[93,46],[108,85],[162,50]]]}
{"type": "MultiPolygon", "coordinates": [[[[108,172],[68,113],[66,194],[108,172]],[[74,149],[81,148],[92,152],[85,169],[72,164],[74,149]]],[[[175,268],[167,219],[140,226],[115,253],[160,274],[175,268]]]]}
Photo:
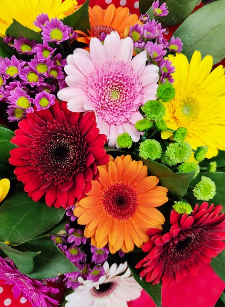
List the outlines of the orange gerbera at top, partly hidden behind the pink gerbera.
{"type": "Polygon", "coordinates": [[[110,4],[106,9],[102,9],[99,5],[89,6],[89,21],[91,31],[88,30],[89,36],[83,31],[76,30],[79,37],[77,41],[85,44],[90,43],[92,37],[100,38],[101,33],[110,34],[117,31],[121,38],[128,36],[129,27],[135,24],[141,24],[136,14],[129,14],[127,7],[119,6],[115,8],[114,4],[110,4]]]}

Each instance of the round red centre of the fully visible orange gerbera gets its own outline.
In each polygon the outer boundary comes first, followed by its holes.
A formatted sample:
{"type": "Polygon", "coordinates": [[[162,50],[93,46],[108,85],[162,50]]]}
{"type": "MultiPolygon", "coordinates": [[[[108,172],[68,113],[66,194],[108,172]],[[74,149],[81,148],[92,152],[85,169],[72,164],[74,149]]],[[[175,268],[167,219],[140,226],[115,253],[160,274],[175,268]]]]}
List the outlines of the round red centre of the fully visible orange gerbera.
{"type": "Polygon", "coordinates": [[[136,212],[137,206],[138,194],[129,183],[117,181],[103,189],[101,207],[112,218],[128,220],[136,212]]]}

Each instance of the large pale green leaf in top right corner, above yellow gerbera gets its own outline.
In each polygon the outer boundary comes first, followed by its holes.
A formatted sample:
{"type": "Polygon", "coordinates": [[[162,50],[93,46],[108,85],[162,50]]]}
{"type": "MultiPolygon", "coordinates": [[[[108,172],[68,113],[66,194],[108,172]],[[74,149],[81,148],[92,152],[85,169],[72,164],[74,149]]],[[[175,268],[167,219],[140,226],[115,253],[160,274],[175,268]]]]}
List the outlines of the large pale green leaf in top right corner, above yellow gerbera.
{"type": "Polygon", "coordinates": [[[174,36],[181,39],[182,53],[189,60],[195,50],[199,50],[202,57],[211,54],[214,64],[225,58],[224,8],[225,0],[209,3],[188,16],[176,29],[174,36]]]}

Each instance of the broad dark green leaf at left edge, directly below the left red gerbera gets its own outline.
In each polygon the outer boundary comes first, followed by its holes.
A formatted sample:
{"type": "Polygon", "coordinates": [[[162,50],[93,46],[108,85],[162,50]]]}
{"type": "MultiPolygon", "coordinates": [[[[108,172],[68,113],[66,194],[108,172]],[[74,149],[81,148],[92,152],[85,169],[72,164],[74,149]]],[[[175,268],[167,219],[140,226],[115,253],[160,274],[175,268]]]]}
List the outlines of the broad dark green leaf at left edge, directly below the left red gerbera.
{"type": "Polygon", "coordinates": [[[0,206],[0,241],[19,245],[50,230],[64,216],[63,208],[35,203],[24,191],[17,191],[0,206]]]}

